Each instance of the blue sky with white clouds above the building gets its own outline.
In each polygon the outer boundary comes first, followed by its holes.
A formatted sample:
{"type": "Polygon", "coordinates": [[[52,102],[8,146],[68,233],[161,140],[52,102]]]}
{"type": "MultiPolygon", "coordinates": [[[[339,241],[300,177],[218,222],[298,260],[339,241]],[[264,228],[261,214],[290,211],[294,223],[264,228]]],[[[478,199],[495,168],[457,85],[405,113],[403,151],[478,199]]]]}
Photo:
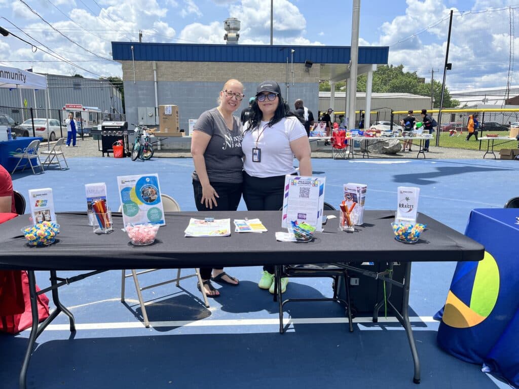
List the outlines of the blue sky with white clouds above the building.
{"type": "MultiPolygon", "coordinates": [[[[519,8],[500,0],[363,0],[360,43],[389,46],[390,64],[427,79],[431,70],[441,77],[453,8],[447,86],[503,86],[509,81],[510,45],[519,58],[509,34],[509,20],[519,33],[514,7],[519,8]]],[[[351,1],[274,0],[274,43],[349,46],[351,13],[351,1]]],[[[142,30],[143,41],[224,43],[223,21],[229,16],[241,21],[240,43],[269,43],[268,0],[0,0],[0,26],[40,49],[33,52],[12,36],[0,36],[0,60],[44,73],[120,76],[120,65],[107,60],[111,41],[137,41],[142,30]]],[[[512,73],[512,84],[519,84],[514,79],[512,73]]]]}

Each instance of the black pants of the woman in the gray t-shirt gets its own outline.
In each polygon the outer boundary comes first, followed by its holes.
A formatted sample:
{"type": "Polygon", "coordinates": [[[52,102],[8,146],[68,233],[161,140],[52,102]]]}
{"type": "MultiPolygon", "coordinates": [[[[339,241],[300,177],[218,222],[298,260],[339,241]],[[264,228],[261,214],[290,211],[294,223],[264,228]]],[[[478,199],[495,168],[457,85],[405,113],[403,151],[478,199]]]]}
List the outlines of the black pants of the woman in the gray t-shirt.
{"type": "MultiPolygon", "coordinates": [[[[241,190],[243,185],[241,183],[218,183],[212,182],[211,186],[218,193],[218,198],[216,198],[217,206],[213,206],[211,210],[206,206],[206,204],[202,204],[200,201],[202,200],[202,185],[200,181],[193,180],[193,192],[195,195],[195,204],[196,209],[198,211],[236,211],[238,209],[238,204],[241,200],[241,190]]],[[[222,270],[222,267],[214,268],[217,270],[222,270]]],[[[200,268],[200,276],[203,280],[209,280],[211,278],[211,272],[213,268],[200,268]]]]}

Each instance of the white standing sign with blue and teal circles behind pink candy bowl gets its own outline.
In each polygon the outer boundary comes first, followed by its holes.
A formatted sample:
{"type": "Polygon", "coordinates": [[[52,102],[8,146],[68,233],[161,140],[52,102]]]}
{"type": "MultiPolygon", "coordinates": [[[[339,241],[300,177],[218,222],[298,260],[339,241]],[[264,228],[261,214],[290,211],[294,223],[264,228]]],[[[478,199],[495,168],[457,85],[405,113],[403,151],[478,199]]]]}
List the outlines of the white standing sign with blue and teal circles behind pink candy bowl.
{"type": "Polygon", "coordinates": [[[118,176],[117,185],[125,226],[128,223],[166,225],[158,174],[118,176]]]}

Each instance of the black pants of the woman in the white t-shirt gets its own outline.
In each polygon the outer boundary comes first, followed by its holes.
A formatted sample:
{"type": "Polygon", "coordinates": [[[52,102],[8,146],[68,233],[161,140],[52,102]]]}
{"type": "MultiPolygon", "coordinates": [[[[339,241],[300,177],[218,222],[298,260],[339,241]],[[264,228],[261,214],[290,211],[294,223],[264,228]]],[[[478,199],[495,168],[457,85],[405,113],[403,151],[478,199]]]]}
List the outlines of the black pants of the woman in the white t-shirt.
{"type": "MultiPolygon", "coordinates": [[[[248,211],[279,211],[283,206],[285,176],[252,177],[243,172],[243,200],[248,211]]],[[[274,265],[263,270],[274,274],[274,265]]]]}

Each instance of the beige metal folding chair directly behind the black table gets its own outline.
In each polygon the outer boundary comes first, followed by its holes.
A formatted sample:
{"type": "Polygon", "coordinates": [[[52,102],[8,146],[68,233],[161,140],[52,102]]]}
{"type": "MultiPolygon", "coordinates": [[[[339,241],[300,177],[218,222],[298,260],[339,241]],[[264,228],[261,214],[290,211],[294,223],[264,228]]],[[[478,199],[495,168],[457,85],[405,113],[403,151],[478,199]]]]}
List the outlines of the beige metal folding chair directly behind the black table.
{"type": "MultiPolygon", "coordinates": [[[[170,197],[168,195],[160,195],[160,198],[162,200],[162,206],[164,208],[164,212],[179,212],[180,211],[179,203],[177,203],[172,197],[170,197]]],[[[122,205],[119,207],[119,212],[121,212],[121,210],[122,210],[122,205]]],[[[121,302],[125,302],[126,279],[128,277],[133,277],[133,282],[135,283],[135,290],[137,291],[137,296],[139,297],[139,304],[141,305],[142,317],[144,319],[144,325],[146,326],[146,328],[149,327],[149,320],[148,320],[148,315],[146,313],[146,307],[144,305],[144,299],[142,298],[141,292],[143,290],[151,289],[156,286],[171,284],[172,282],[176,282],[176,286],[180,286],[181,280],[185,280],[190,277],[198,277],[198,282],[200,283],[200,285],[202,285],[202,283],[203,283],[202,277],[200,276],[200,269],[196,268],[195,273],[184,275],[183,277],[180,276],[181,269],[178,269],[177,273],[176,273],[176,278],[174,278],[172,280],[159,282],[157,284],[141,287],[137,276],[140,274],[149,273],[149,272],[152,272],[155,270],[160,270],[160,269],[146,269],[146,270],[142,270],[140,272],[137,272],[136,270],[132,269],[131,273],[128,273],[128,274],[126,274],[126,269],[123,269],[122,276],[121,276],[121,302]]],[[[204,305],[206,305],[206,307],[209,308],[209,301],[207,299],[206,289],[205,288],[201,288],[201,289],[202,289],[201,292],[202,292],[202,296],[203,296],[204,305]]]]}

